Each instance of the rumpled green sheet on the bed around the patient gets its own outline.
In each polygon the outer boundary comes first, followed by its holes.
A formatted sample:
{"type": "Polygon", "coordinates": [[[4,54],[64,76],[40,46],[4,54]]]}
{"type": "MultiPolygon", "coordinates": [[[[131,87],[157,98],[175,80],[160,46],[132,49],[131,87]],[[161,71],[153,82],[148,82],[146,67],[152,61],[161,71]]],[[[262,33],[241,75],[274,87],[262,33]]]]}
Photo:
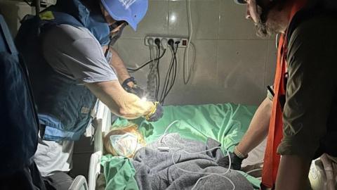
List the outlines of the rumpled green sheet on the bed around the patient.
{"type": "MultiPolygon", "coordinates": [[[[209,137],[219,141],[223,148],[232,151],[248,129],[255,111],[256,106],[234,103],[165,106],[164,116],[157,122],[147,122],[143,119],[131,122],[138,124],[138,129],[147,143],[157,140],[173,121],[178,120],[168,129],[167,133],[178,132],[181,137],[204,142],[209,137]]],[[[123,128],[128,125],[128,122],[128,120],[119,118],[112,128],[123,128]]],[[[133,179],[135,170],[128,159],[103,156],[101,163],[105,177],[109,179],[107,189],[138,189],[136,180],[133,179]]],[[[242,173],[258,189],[260,180],[242,173]]]]}

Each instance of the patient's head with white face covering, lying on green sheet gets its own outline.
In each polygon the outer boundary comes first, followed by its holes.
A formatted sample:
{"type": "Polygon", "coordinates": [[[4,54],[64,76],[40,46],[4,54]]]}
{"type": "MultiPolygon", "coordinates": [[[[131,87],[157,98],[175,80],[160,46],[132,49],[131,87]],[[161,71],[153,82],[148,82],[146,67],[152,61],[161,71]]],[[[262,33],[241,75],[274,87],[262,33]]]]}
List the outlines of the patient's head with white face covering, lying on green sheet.
{"type": "Polygon", "coordinates": [[[133,124],[123,129],[111,130],[103,141],[106,153],[132,158],[139,148],[145,146],[144,137],[137,128],[133,124]]]}

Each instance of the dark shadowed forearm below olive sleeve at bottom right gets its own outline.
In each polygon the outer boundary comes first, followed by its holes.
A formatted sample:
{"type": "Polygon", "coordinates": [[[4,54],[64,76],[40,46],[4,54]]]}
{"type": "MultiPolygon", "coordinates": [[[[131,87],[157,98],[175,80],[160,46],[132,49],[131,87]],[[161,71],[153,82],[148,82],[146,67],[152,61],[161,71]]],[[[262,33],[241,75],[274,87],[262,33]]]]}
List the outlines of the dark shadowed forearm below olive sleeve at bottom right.
{"type": "Polygon", "coordinates": [[[299,156],[281,156],[275,190],[309,189],[308,173],[311,160],[299,156]]]}

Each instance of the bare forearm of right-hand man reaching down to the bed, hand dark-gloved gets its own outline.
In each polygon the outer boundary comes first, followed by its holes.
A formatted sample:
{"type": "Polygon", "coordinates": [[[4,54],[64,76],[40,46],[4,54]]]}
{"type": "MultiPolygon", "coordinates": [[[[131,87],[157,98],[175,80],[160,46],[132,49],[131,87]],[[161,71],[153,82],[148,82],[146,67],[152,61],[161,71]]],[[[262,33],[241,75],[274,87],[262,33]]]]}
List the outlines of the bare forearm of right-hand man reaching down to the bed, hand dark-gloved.
{"type": "Polygon", "coordinates": [[[265,139],[268,134],[271,110],[272,101],[266,98],[256,110],[249,129],[242,137],[242,141],[237,145],[237,150],[240,153],[248,155],[253,148],[265,139]]]}

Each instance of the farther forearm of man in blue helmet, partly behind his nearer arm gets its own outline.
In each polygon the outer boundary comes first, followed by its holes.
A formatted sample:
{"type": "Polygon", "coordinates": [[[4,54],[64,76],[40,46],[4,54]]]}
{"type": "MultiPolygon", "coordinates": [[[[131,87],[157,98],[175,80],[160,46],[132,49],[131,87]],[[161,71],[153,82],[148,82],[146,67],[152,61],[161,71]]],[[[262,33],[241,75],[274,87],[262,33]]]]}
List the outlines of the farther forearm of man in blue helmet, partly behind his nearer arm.
{"type": "Polygon", "coordinates": [[[128,70],[126,69],[124,62],[121,60],[121,57],[119,57],[119,54],[117,51],[114,51],[112,47],[110,47],[110,51],[112,52],[112,58],[110,60],[110,65],[114,70],[117,72],[117,77],[119,82],[124,82],[124,80],[128,79],[130,77],[130,74],[128,73],[128,70]]]}

